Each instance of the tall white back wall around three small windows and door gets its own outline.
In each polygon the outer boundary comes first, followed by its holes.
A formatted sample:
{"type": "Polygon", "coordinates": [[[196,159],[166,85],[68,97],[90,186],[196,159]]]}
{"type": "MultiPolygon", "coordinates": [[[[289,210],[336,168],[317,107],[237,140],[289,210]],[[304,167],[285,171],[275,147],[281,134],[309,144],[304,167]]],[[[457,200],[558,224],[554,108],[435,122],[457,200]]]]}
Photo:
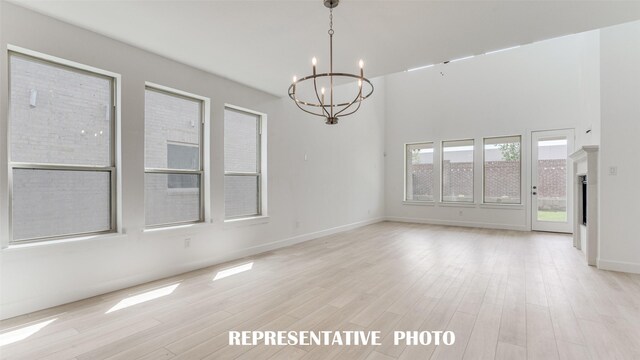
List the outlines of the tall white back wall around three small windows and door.
{"type": "MultiPolygon", "coordinates": [[[[387,218],[530,229],[530,135],[574,128],[576,146],[599,143],[599,34],[552,39],[386,78],[387,218]],[[591,133],[586,134],[588,128],[591,133]],[[483,137],[523,136],[523,205],[480,205],[483,137]],[[403,203],[404,143],[474,138],[472,206],[403,203]]],[[[436,163],[437,163],[436,159],[436,163]]],[[[436,194],[436,199],[439,194],[436,194]]]]}

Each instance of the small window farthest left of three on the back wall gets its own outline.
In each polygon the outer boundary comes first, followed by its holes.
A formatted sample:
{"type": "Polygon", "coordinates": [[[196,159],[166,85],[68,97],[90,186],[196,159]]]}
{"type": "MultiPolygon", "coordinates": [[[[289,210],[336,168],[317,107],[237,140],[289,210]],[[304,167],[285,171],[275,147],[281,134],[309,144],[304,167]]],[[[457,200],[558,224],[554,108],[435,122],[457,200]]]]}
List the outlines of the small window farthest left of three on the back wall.
{"type": "Polygon", "coordinates": [[[433,143],[405,145],[405,200],[433,201],[433,143]]]}

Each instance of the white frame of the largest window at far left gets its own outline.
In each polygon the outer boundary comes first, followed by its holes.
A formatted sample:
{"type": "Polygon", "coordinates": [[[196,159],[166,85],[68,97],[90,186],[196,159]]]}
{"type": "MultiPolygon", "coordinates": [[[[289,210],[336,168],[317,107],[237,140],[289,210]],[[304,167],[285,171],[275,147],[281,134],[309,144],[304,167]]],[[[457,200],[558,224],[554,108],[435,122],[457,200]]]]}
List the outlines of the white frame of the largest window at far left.
{"type": "Polygon", "coordinates": [[[76,63],[73,61],[61,59],[55,56],[47,55],[44,53],[39,53],[36,51],[31,51],[28,49],[20,48],[17,46],[7,45],[7,83],[8,83],[8,91],[7,91],[7,103],[9,107],[9,111],[7,112],[7,165],[8,165],[8,244],[11,245],[21,245],[21,244],[29,244],[29,243],[42,243],[46,241],[52,240],[60,240],[60,239],[68,239],[68,238],[80,238],[91,235],[101,235],[101,234],[112,234],[118,232],[118,159],[117,159],[117,144],[118,144],[118,118],[119,118],[119,86],[120,86],[120,76],[115,73],[111,73],[105,70],[97,69],[88,65],[76,63]],[[110,111],[110,137],[109,137],[109,165],[76,165],[76,164],[58,164],[58,163],[39,163],[39,162],[19,162],[12,161],[11,154],[11,59],[12,57],[19,57],[23,59],[27,59],[29,61],[37,62],[40,64],[45,64],[52,67],[57,67],[60,69],[64,69],[67,71],[72,71],[80,74],[86,74],[98,78],[102,78],[109,81],[110,93],[111,93],[111,111],[110,111]],[[85,231],[85,232],[74,232],[68,234],[59,234],[52,236],[38,236],[27,239],[15,239],[13,233],[13,171],[14,169],[24,169],[24,170],[53,170],[53,171],[93,171],[93,172],[109,172],[109,229],[100,230],[100,231],[85,231]]]}

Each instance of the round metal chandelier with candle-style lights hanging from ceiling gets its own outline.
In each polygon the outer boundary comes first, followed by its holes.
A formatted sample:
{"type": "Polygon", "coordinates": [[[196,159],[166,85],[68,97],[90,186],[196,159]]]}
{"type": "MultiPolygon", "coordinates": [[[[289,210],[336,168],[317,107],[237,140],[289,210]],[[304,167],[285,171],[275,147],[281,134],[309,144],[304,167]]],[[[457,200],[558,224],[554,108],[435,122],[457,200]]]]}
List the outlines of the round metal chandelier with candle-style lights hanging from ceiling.
{"type": "Polygon", "coordinates": [[[337,124],[338,117],[351,115],[358,111],[362,101],[373,94],[373,84],[364,77],[364,62],[362,60],[359,61],[360,75],[333,72],[333,8],[338,6],[339,3],[340,0],[324,0],[324,6],[329,8],[329,72],[317,73],[316,65],[318,61],[314,57],[311,60],[313,74],[300,79],[294,76],[293,83],[291,83],[288,90],[289,97],[300,110],[311,115],[324,117],[326,119],[325,123],[328,125],[337,124]],[[358,81],[356,94],[346,97],[346,100],[338,100],[337,94],[334,94],[334,83],[344,84],[354,79],[358,81]],[[328,89],[325,89],[320,84],[320,90],[318,90],[318,83],[320,82],[327,83],[328,89]],[[364,87],[366,89],[363,89],[364,87]],[[309,95],[307,98],[301,99],[298,97],[296,90],[305,88],[309,95]],[[309,100],[308,98],[311,99],[309,100]]]}

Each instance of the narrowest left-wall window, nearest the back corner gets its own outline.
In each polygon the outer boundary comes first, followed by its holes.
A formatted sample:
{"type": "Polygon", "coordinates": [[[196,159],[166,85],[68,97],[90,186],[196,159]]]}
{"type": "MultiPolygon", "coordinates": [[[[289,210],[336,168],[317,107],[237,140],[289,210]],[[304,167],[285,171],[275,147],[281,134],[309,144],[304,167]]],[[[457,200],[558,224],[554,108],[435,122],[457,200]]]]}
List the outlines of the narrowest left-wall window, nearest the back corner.
{"type": "Polygon", "coordinates": [[[226,107],[224,206],[227,219],[262,214],[262,115],[226,107]]]}

